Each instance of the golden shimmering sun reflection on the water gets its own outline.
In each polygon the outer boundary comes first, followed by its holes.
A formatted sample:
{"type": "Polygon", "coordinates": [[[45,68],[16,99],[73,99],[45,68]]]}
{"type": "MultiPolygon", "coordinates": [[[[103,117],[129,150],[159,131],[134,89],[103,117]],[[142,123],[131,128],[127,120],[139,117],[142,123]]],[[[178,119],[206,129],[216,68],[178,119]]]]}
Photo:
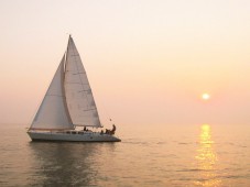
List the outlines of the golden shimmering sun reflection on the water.
{"type": "Polygon", "coordinates": [[[219,187],[221,180],[217,178],[216,164],[217,155],[214,150],[214,141],[211,140],[211,128],[209,124],[203,124],[199,134],[199,147],[195,160],[198,164],[200,178],[195,182],[197,186],[219,187]]]}

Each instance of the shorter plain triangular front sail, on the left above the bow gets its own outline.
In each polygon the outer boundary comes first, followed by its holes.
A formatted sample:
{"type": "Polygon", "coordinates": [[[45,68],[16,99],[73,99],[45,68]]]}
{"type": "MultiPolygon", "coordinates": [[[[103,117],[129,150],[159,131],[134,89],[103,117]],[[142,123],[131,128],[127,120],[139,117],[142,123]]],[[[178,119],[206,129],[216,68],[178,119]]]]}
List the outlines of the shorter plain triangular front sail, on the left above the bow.
{"type": "Polygon", "coordinates": [[[31,130],[74,129],[65,102],[64,62],[65,55],[31,124],[31,130]]]}

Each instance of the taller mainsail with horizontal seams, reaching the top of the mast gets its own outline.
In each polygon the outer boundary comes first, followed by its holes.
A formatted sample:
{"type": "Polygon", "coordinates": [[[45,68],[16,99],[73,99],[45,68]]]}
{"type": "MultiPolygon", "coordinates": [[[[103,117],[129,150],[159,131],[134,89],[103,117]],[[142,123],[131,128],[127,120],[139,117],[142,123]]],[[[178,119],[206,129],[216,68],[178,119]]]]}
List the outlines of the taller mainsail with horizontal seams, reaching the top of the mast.
{"type": "Polygon", "coordinates": [[[75,125],[101,127],[91,88],[79,53],[69,36],[65,63],[65,95],[75,125]]]}

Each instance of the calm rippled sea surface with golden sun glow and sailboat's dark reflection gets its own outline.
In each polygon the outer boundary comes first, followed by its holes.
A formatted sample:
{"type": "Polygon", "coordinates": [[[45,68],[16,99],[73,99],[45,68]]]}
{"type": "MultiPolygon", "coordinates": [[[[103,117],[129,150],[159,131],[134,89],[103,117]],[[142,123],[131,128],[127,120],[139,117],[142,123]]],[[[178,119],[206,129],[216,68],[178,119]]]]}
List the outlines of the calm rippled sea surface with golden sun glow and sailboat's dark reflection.
{"type": "Polygon", "coordinates": [[[120,143],[31,142],[0,124],[0,186],[250,186],[246,125],[118,125],[120,143]]]}

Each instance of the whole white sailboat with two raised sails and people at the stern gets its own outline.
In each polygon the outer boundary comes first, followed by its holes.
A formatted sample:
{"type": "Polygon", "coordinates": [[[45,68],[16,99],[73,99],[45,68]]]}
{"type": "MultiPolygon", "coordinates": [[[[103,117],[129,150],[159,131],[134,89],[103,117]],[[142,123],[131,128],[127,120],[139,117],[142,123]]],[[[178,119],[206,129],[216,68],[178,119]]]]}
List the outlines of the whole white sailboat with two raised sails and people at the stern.
{"type": "MultiPolygon", "coordinates": [[[[119,142],[101,129],[91,88],[73,37],[28,130],[32,141],[119,142]],[[87,130],[93,128],[94,130],[87,130]]],[[[113,125],[113,128],[116,128],[113,125]]]]}

